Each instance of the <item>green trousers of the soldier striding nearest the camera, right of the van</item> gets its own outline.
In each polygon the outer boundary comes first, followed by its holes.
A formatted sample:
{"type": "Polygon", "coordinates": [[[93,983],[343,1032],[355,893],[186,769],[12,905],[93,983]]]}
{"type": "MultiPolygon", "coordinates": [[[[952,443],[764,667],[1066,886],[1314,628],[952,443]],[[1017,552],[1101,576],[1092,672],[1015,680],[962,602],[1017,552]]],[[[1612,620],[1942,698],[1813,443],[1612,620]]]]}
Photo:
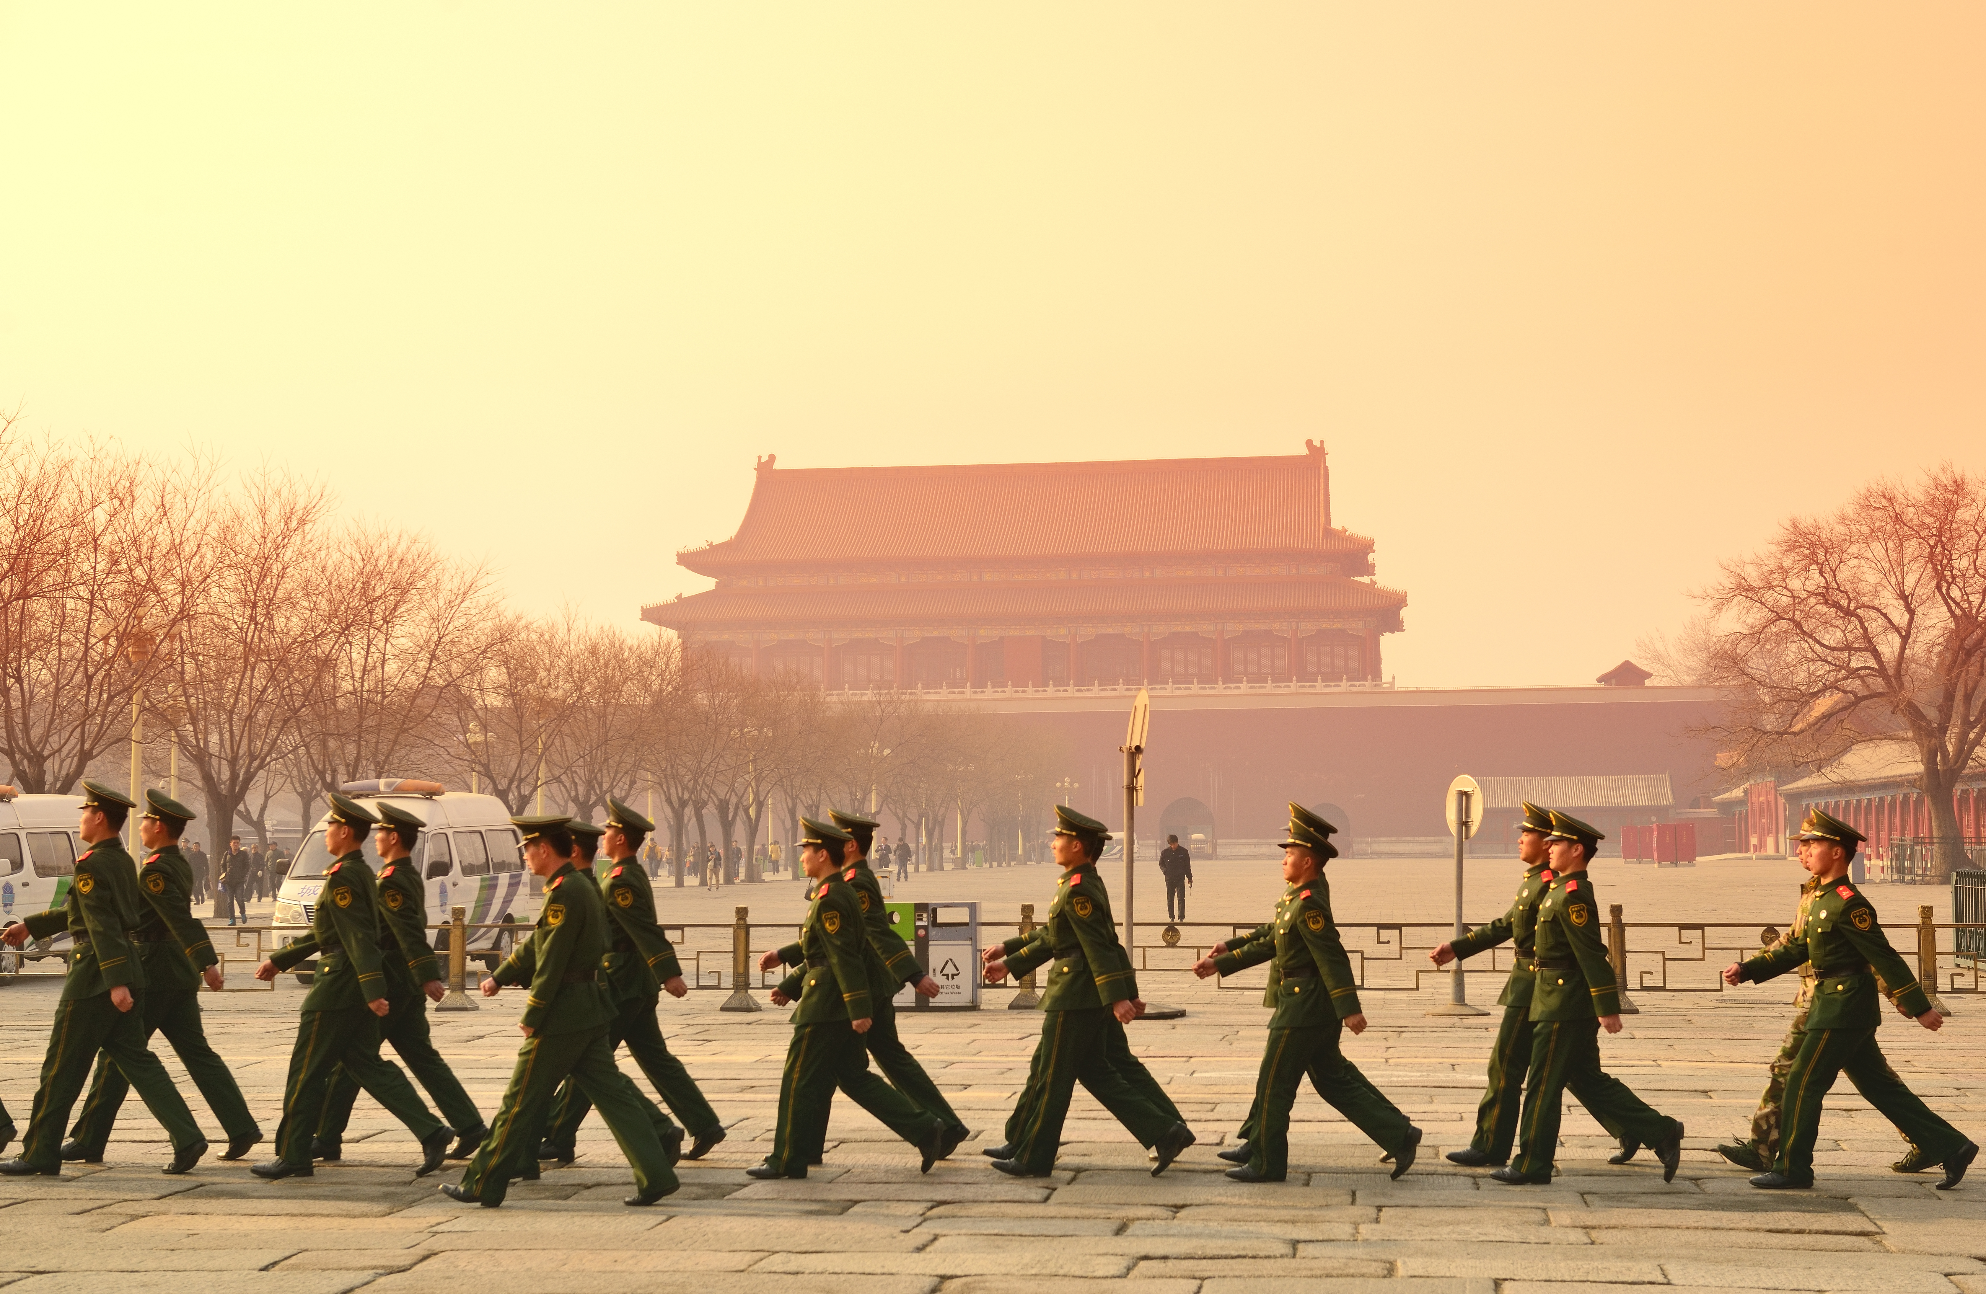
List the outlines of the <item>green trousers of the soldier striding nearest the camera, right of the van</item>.
{"type": "Polygon", "coordinates": [[[502,1090],[502,1103],[491,1119],[491,1135],[477,1147],[463,1171],[463,1189],[485,1205],[500,1205],[510,1181],[536,1167],[538,1129],[552,1107],[560,1080],[572,1078],[586,1100],[600,1107],[614,1143],[634,1169],[634,1185],[649,1195],[675,1185],[669,1153],[661,1145],[651,1115],[653,1105],[636,1092],[634,1080],[614,1064],[608,1028],[600,1024],[570,1034],[532,1034],[516,1052],[516,1068],[502,1090]],[[643,1105],[647,1105],[643,1109],[643,1105]]]}

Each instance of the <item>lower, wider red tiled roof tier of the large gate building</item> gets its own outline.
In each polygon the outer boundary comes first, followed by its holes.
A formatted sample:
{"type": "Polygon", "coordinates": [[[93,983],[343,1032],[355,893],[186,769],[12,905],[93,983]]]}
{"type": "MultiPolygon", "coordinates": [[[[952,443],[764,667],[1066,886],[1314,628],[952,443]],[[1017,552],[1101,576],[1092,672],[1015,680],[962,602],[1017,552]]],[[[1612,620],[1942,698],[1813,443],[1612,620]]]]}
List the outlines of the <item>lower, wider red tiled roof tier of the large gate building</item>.
{"type": "Polygon", "coordinates": [[[1400,627],[1406,593],[1356,580],[1122,583],[854,583],[725,587],[641,609],[677,633],[739,629],[890,629],[914,625],[1070,625],[1142,619],[1325,619],[1372,615],[1400,627]]]}

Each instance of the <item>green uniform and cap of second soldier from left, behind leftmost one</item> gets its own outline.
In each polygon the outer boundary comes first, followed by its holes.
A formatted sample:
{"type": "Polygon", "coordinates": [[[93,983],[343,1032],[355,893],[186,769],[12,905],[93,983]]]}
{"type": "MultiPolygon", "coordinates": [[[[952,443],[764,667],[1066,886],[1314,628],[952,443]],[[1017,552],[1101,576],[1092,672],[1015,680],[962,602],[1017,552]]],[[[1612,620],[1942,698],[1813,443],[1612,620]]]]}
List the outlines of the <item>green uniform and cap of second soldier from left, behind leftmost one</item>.
{"type": "MultiPolygon", "coordinates": [[[[185,804],[159,790],[145,792],[145,802],[147,818],[165,822],[177,832],[195,818],[185,804]]],[[[149,1044],[153,1034],[165,1034],[173,1044],[179,1064],[187,1066],[187,1076],[228,1137],[228,1153],[222,1159],[238,1159],[262,1139],[262,1129],[248,1113],[248,1101],[242,1100],[226,1062],[207,1042],[201,1018],[201,972],[218,965],[220,957],[207,937],[207,927],[193,915],[193,865],[177,841],[145,855],[137,893],[145,903],[145,917],[131,933],[131,943],[145,969],[145,1042],[149,1044]]],[[[85,1163],[103,1159],[117,1109],[129,1090],[131,1084],[111,1062],[109,1052],[101,1054],[89,1096],[83,1098],[83,1109],[70,1129],[64,1159],[85,1163]]]]}

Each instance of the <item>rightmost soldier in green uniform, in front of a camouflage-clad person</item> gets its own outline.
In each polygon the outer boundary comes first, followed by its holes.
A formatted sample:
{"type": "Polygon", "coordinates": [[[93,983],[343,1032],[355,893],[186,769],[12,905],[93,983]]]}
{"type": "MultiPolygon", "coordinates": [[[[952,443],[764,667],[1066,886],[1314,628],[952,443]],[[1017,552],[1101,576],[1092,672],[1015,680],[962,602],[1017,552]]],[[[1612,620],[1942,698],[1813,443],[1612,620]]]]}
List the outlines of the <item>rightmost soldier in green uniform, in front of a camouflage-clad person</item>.
{"type": "Polygon", "coordinates": [[[1799,865],[1819,881],[1799,935],[1732,965],[1726,984],[1764,982],[1813,967],[1813,1000],[1799,1030],[1799,1048],[1785,1074],[1785,1127],[1772,1171],[1752,1185],[1762,1191],[1805,1191],[1813,1187],[1813,1141],[1821,1133],[1821,1098],[1835,1076],[1849,1082],[1918,1149],[1920,1167],[1944,1165],[1938,1191],[1964,1179],[1980,1147],[1940,1119],[1911,1092],[1883,1060],[1875,1030],[1883,1008],[1877,976],[1889,988],[1897,1010],[1928,1030],[1944,1024],[1918,986],[1916,976],[1883,935],[1875,905],[1849,881],[1849,859],[1863,834],[1845,822],[1811,810],[1799,824],[1799,865]]]}

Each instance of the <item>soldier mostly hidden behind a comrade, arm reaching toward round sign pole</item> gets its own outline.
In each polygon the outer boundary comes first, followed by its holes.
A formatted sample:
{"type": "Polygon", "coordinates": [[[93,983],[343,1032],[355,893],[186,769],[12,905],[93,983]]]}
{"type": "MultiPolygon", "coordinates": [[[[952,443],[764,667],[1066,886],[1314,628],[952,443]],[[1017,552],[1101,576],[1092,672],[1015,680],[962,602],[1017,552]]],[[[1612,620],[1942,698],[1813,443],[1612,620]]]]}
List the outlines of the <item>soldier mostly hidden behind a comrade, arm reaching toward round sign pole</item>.
{"type": "MultiPolygon", "coordinates": [[[[1509,965],[1509,980],[1497,1006],[1503,1008],[1503,1022],[1497,1026],[1495,1044],[1490,1048],[1490,1088],[1482,1105],[1476,1107],[1476,1137],[1460,1151],[1448,1151],[1454,1163],[1478,1167],[1503,1167],[1509,1163],[1509,1147],[1517,1139],[1517,1111],[1523,1103],[1523,1074],[1531,1068],[1531,990],[1537,988],[1537,905],[1557,879],[1547,857],[1545,838],[1551,836],[1551,814],[1523,800],[1523,822],[1517,830],[1517,859],[1525,865],[1523,879],[1517,881],[1517,897],[1509,911],[1490,925],[1476,927],[1462,939],[1444,943],[1428,953],[1428,961],[1446,967],[1456,959],[1476,957],[1499,943],[1515,941],[1517,957],[1509,965]]],[[[1593,1103],[1581,1094],[1581,1076],[1573,1076],[1573,1096],[1587,1113],[1607,1127],[1607,1133],[1621,1141],[1621,1151],[1607,1163],[1627,1163],[1640,1151],[1640,1141],[1621,1135],[1607,1123],[1593,1103]]],[[[1605,1100],[1597,1101],[1601,1109],[1605,1100]]]]}

